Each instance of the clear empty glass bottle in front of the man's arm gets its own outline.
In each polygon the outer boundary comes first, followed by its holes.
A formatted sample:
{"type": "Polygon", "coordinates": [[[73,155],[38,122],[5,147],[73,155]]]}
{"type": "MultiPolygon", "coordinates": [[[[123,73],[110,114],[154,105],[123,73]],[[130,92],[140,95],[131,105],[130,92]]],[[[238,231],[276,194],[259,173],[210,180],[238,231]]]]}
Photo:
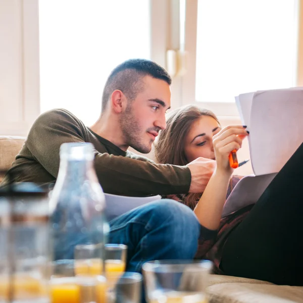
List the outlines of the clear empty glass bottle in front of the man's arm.
{"type": "MultiPolygon", "coordinates": [[[[76,245],[104,247],[109,225],[104,215],[105,195],[94,170],[91,143],[63,143],[58,178],[51,192],[53,272],[73,275],[76,245]],[[67,269],[70,264],[70,272],[67,269]],[[61,269],[60,269],[61,268],[61,269]]],[[[103,259],[104,249],[100,249],[103,259]]]]}

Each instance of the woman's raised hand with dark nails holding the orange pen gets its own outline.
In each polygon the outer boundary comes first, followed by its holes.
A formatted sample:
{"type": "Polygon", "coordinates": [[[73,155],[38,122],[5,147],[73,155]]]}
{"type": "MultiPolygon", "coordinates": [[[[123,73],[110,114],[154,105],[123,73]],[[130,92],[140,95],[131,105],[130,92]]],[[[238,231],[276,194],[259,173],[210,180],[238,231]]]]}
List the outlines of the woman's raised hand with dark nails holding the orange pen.
{"type": "Polygon", "coordinates": [[[229,154],[242,146],[242,140],[249,134],[242,125],[227,126],[213,137],[217,161],[217,171],[231,175],[233,169],[229,164],[229,154]]]}

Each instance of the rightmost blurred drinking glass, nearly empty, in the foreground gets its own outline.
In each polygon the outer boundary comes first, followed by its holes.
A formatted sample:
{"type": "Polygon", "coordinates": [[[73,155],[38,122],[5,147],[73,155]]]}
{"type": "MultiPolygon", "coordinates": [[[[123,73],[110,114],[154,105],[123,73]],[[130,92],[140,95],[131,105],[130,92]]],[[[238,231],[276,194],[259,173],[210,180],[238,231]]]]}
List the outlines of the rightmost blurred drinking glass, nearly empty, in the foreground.
{"type": "Polygon", "coordinates": [[[142,266],[145,297],[149,303],[207,303],[207,260],[162,260],[142,266]]]}

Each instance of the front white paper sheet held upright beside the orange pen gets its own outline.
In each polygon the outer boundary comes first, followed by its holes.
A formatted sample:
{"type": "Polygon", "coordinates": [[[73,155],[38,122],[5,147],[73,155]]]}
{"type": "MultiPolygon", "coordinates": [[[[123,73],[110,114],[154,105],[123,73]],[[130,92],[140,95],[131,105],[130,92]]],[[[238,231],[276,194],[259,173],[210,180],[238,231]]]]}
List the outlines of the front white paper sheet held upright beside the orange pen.
{"type": "Polygon", "coordinates": [[[249,130],[254,174],[279,172],[303,142],[303,90],[256,92],[252,99],[249,130]]]}

